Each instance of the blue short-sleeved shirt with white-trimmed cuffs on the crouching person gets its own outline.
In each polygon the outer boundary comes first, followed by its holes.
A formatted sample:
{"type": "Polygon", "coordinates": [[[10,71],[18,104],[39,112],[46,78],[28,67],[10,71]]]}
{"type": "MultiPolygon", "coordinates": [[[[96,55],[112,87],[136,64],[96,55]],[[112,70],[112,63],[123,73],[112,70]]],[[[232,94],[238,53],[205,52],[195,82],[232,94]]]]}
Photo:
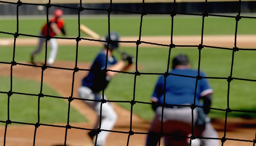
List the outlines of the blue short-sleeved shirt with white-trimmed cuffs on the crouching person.
{"type": "MultiPolygon", "coordinates": [[[[194,76],[198,75],[197,70],[192,69],[173,69],[172,74],[194,76]]],[[[200,76],[205,76],[204,73],[200,72],[200,76]]],[[[164,86],[165,78],[161,75],[158,78],[153,96],[151,100],[153,102],[163,103],[164,96],[164,86]]],[[[166,78],[166,99],[167,104],[177,104],[177,105],[191,105],[194,104],[195,97],[195,87],[196,87],[196,78],[182,77],[169,75],[166,78]]],[[[206,78],[198,80],[197,90],[196,90],[196,105],[201,105],[199,100],[200,97],[203,97],[209,93],[213,93],[208,80],[206,78]]]]}

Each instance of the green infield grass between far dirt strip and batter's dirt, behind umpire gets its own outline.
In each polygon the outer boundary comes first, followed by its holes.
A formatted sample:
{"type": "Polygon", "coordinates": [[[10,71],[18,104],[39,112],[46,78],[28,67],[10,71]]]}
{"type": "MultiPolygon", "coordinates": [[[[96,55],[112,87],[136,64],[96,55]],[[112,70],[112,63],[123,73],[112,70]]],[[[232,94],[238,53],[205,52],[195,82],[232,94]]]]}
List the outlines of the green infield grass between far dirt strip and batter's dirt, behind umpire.
{"type": "MultiPolygon", "coordinates": [[[[28,60],[28,54],[34,47],[17,47],[15,61],[28,60]]],[[[136,56],[136,48],[123,47],[120,48],[129,54],[136,56]]],[[[91,62],[95,55],[100,50],[99,47],[79,47],[78,61],[91,62]]],[[[162,48],[143,48],[138,50],[138,70],[144,73],[163,73],[167,70],[168,47],[162,48]],[[149,51],[150,50],[150,51],[149,51]]],[[[185,53],[189,56],[192,68],[198,68],[198,49],[197,48],[179,48],[175,47],[171,51],[171,58],[178,53],[185,53]]],[[[12,47],[0,49],[3,57],[0,61],[11,61],[12,47]],[[6,55],[4,55],[6,54],[6,55]],[[11,58],[10,58],[11,56],[11,58]]],[[[120,59],[118,54],[114,54],[120,59]]],[[[232,77],[244,79],[256,79],[256,62],[252,61],[256,52],[239,50],[234,54],[234,64],[232,77]]],[[[201,51],[200,69],[209,77],[228,77],[231,71],[232,51],[223,49],[203,48],[201,51]]],[[[42,52],[37,59],[44,59],[42,52]]],[[[57,60],[75,60],[75,48],[60,46],[57,55],[57,60]]],[[[81,68],[81,67],[79,67],[81,68]]],[[[131,70],[134,72],[135,70],[131,70]]],[[[136,77],[135,100],[142,102],[150,102],[150,97],[153,92],[158,75],[140,75],[136,77]]],[[[228,82],[226,79],[209,79],[209,82],[214,89],[213,108],[227,108],[227,91],[228,82]]],[[[133,99],[134,75],[119,73],[115,76],[107,89],[105,95],[110,100],[131,101],[133,99]]],[[[229,107],[232,110],[248,110],[255,111],[256,99],[254,97],[253,87],[255,82],[233,80],[230,83],[229,92],[229,107]],[[238,104],[239,103],[239,104],[238,104]]],[[[38,89],[37,89],[38,90],[38,89]]],[[[25,92],[25,91],[23,91],[25,92]]],[[[38,91],[37,91],[38,93],[38,91]]],[[[121,106],[130,110],[129,103],[119,103],[121,106]]],[[[154,115],[149,104],[136,103],[133,106],[133,112],[144,119],[151,119],[154,115]]],[[[224,118],[225,112],[212,110],[210,113],[212,118],[224,118]]],[[[255,114],[231,112],[231,117],[256,117],[255,114]]]]}

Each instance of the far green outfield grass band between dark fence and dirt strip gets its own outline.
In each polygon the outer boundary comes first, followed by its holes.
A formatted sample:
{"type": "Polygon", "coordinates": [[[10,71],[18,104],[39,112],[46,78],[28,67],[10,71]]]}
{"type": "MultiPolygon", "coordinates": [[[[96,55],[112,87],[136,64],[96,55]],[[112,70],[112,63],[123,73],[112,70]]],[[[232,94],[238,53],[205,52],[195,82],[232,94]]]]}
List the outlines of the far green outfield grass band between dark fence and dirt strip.
{"type": "MultiPolygon", "coordinates": [[[[110,30],[117,31],[121,36],[139,36],[140,16],[124,16],[110,17],[110,30]]],[[[42,25],[46,22],[46,18],[38,19],[19,19],[19,33],[29,35],[39,35],[42,25]]],[[[256,20],[250,18],[242,18],[238,24],[238,34],[255,34],[254,24],[256,20]]],[[[0,20],[0,31],[15,33],[17,30],[17,21],[0,20]]],[[[65,18],[67,37],[78,36],[78,20],[74,16],[65,18]]],[[[103,18],[81,18],[80,23],[88,26],[98,34],[104,36],[108,32],[108,17],[103,18]]],[[[181,17],[175,16],[173,23],[174,35],[200,35],[202,30],[202,17],[181,17]]],[[[204,19],[204,34],[232,34],[235,33],[235,18],[213,17],[208,16],[204,19]]],[[[171,17],[163,15],[161,17],[146,15],[143,17],[141,35],[170,35],[171,34],[171,17]]],[[[62,36],[62,35],[60,35],[62,36]]],[[[81,36],[86,35],[81,32],[81,36]]],[[[0,33],[0,38],[13,37],[13,35],[0,33]]],[[[24,37],[24,36],[20,36],[24,37]]]]}

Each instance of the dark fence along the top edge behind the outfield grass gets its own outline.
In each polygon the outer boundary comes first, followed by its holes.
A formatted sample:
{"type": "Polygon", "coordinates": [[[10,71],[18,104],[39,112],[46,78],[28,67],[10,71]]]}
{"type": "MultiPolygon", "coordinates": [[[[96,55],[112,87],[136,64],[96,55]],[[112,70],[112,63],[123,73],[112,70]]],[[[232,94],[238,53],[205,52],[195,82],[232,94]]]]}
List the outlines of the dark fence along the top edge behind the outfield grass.
{"type": "MultiPolygon", "coordinates": [[[[183,2],[175,3],[176,12],[178,13],[203,13],[205,10],[204,2],[183,2]]],[[[79,8],[80,4],[58,4],[61,6],[68,6],[73,8],[79,8]]],[[[146,13],[170,13],[172,12],[173,3],[113,3],[112,8],[120,11],[113,11],[111,14],[131,14],[130,12],[142,11],[146,13]],[[142,8],[144,10],[142,10],[142,8]]],[[[0,4],[0,15],[16,15],[16,4],[0,4]]],[[[90,10],[84,10],[81,14],[106,14],[106,11],[99,9],[109,9],[109,3],[101,4],[83,4],[84,8],[90,10]],[[94,10],[97,9],[97,10],[94,10]]],[[[46,7],[43,6],[42,10],[38,9],[38,5],[24,4],[19,7],[19,15],[46,15],[46,7]]],[[[41,7],[42,8],[42,7],[41,7]]],[[[238,13],[238,1],[237,2],[208,2],[208,13],[238,13]]],[[[54,6],[49,9],[49,14],[54,11],[54,6]]],[[[241,2],[241,13],[254,13],[256,12],[256,2],[246,1],[241,2]]],[[[65,9],[65,14],[74,15],[77,14],[77,10],[65,9]]],[[[134,14],[134,13],[133,13],[134,14]]]]}

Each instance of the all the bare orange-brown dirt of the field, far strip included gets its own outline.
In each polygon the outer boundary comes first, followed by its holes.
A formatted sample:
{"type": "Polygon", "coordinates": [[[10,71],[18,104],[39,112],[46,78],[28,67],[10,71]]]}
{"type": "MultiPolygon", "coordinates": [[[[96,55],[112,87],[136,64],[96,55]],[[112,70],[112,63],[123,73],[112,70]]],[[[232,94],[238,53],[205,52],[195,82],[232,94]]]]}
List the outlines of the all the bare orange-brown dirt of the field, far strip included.
{"type": "MultiPolygon", "coordinates": [[[[136,41],[137,37],[123,37],[121,40],[136,41]]],[[[256,46],[255,35],[239,35],[237,40],[238,47],[255,48],[256,46]]],[[[12,46],[13,39],[0,39],[0,46],[12,46]]],[[[62,45],[74,45],[74,40],[59,40],[62,45]]],[[[141,41],[155,42],[159,44],[170,44],[170,38],[168,36],[163,37],[142,37],[141,41]]],[[[200,44],[200,36],[177,36],[174,38],[174,44],[200,44]]],[[[16,45],[36,45],[37,39],[22,39],[18,38],[16,45]]],[[[80,45],[101,45],[97,42],[81,41],[80,45]]],[[[233,47],[234,36],[205,36],[204,45],[219,47],[233,47]]],[[[133,45],[134,43],[122,43],[122,46],[133,45]]],[[[141,46],[148,46],[148,44],[141,44],[141,46]]],[[[152,45],[150,45],[152,46],[152,45]]],[[[155,46],[155,45],[154,45],[155,46]]],[[[74,68],[74,62],[60,62],[57,61],[54,64],[56,67],[74,68]]],[[[78,63],[79,68],[88,68],[88,63],[78,63]]],[[[0,75],[10,76],[10,65],[0,65],[0,75]]],[[[16,65],[13,68],[13,75],[20,78],[33,79],[35,81],[41,81],[41,69],[35,67],[28,67],[23,65],[16,65]]],[[[75,74],[74,82],[74,95],[77,97],[76,90],[80,86],[80,80],[85,75],[85,72],[79,71],[75,74]]],[[[72,85],[72,71],[51,69],[48,68],[44,72],[44,82],[49,84],[55,89],[61,96],[69,97],[71,93],[72,85]]],[[[71,105],[81,112],[89,119],[88,123],[70,123],[71,126],[81,128],[92,128],[95,121],[95,114],[82,102],[74,100],[71,105]]],[[[118,114],[118,120],[114,127],[114,131],[130,131],[130,111],[124,110],[122,107],[114,104],[115,111],[118,114]]],[[[56,125],[66,125],[66,123],[59,123],[56,125]]],[[[136,115],[132,115],[132,131],[134,132],[147,132],[150,125],[149,121],[145,121],[136,115]]],[[[224,136],[224,119],[213,120],[213,126],[219,133],[219,137],[224,136]]],[[[228,118],[226,138],[233,138],[239,140],[255,139],[256,131],[256,119],[244,120],[240,118],[228,118]]],[[[89,138],[86,136],[85,130],[69,129],[67,144],[71,146],[93,146],[89,138]]],[[[6,146],[32,146],[34,135],[34,126],[8,126],[6,146]]],[[[3,144],[4,127],[0,126],[0,145],[3,144]]],[[[145,144],[144,134],[134,134],[130,137],[130,146],[143,146],[145,144]]],[[[53,146],[56,144],[63,144],[65,138],[65,128],[40,126],[37,131],[36,146],[53,146]]],[[[111,132],[106,146],[126,146],[128,134],[111,132]]],[[[228,140],[224,143],[224,146],[252,146],[252,142],[241,142],[228,140]]]]}

